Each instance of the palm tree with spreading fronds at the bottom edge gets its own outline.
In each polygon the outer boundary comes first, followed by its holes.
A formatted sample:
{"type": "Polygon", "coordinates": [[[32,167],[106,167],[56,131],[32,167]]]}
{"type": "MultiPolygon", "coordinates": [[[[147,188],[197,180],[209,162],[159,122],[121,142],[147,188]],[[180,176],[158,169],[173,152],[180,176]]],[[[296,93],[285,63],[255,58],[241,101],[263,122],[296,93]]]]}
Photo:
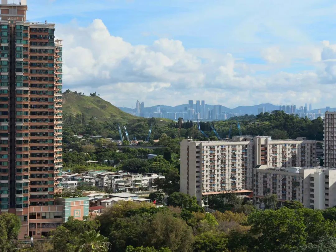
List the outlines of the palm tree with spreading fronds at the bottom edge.
{"type": "Polygon", "coordinates": [[[109,239],[95,230],[85,231],[79,244],[76,252],[108,252],[111,246],[109,239]]]}

